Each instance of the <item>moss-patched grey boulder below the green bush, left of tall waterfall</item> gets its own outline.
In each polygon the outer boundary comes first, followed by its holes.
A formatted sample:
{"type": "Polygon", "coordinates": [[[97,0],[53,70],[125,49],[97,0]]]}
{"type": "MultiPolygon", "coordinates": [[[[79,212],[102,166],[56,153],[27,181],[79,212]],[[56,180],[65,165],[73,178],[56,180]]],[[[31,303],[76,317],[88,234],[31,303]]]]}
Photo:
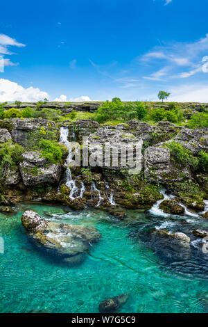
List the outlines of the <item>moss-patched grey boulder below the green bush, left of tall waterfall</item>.
{"type": "Polygon", "coordinates": [[[33,163],[23,161],[19,164],[21,178],[26,186],[34,186],[40,183],[58,183],[60,180],[60,164],[51,163],[46,166],[35,166],[33,163]]]}

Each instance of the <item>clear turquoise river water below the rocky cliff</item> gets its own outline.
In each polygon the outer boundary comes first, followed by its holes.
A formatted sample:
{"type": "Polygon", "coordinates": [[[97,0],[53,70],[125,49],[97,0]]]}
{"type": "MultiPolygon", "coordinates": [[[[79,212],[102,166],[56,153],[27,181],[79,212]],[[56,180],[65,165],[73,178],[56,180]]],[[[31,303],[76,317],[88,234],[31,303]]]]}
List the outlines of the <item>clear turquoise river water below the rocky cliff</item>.
{"type": "Polygon", "coordinates": [[[193,227],[208,228],[205,219],[166,220],[135,210],[122,222],[101,210],[67,214],[64,210],[30,204],[19,205],[14,216],[0,214],[5,246],[0,254],[0,312],[92,313],[104,299],[125,292],[130,296],[119,312],[208,312],[208,303],[202,300],[208,291],[208,257],[196,239],[189,257],[178,258],[146,233],[163,224],[191,235],[193,227]],[[28,241],[20,218],[29,208],[53,221],[94,226],[102,239],[79,266],[58,264],[28,241]]]}

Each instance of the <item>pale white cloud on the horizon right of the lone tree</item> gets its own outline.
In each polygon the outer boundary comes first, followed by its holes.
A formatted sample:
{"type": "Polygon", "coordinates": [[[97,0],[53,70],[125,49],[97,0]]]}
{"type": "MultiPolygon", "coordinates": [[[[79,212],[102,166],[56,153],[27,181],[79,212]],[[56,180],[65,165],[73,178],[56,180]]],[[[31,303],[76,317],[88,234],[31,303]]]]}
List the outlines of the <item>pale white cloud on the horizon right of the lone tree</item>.
{"type": "Polygon", "coordinates": [[[192,84],[171,88],[169,101],[175,102],[208,102],[208,84],[192,84]]]}

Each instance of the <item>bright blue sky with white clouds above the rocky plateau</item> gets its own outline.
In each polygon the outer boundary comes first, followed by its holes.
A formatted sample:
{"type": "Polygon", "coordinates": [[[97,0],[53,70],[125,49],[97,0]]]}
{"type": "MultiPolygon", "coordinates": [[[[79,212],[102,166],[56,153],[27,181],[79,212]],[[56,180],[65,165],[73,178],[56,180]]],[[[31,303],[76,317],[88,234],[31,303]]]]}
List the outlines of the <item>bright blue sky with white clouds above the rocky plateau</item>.
{"type": "Polygon", "coordinates": [[[155,100],[159,90],[208,102],[207,12],[207,0],[4,1],[0,102],[155,100]]]}

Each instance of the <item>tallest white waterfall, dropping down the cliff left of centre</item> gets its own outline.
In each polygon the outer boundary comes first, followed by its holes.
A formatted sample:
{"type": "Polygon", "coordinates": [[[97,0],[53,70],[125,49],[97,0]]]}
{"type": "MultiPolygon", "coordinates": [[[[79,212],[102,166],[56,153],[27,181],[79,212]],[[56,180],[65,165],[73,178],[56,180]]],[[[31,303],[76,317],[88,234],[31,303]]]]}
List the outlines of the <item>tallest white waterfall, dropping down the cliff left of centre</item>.
{"type": "MultiPolygon", "coordinates": [[[[76,186],[76,180],[73,180],[73,178],[71,176],[71,169],[69,168],[69,163],[72,161],[72,154],[71,154],[71,142],[69,142],[68,137],[69,137],[69,128],[61,127],[60,128],[60,142],[64,143],[64,145],[67,147],[67,150],[69,151],[67,160],[66,160],[66,162],[67,162],[66,186],[69,187],[69,189],[70,189],[69,198],[71,200],[75,200],[76,198],[83,198],[83,193],[85,192],[85,185],[82,182],[81,189],[80,189],[80,196],[78,196],[79,189],[76,186]]],[[[72,129],[71,137],[73,138],[73,140],[75,140],[75,134],[74,134],[73,129],[72,129]]]]}

